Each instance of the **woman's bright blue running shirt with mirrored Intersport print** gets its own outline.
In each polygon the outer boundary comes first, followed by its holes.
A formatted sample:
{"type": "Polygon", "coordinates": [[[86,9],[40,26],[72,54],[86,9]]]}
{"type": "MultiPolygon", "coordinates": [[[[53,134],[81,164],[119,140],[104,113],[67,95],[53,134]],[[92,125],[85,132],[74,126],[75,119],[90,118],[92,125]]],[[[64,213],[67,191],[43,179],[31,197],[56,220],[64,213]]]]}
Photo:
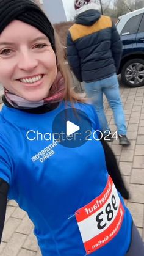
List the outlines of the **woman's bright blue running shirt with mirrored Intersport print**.
{"type": "MultiPolygon", "coordinates": [[[[74,106],[88,115],[94,130],[99,130],[92,106],[84,103],[74,106]]],[[[29,130],[52,133],[54,117],[65,108],[71,108],[71,103],[65,106],[62,102],[45,114],[30,114],[4,106],[0,114],[0,177],[10,184],[9,199],[16,200],[34,223],[43,256],[86,255],[74,213],[98,197],[108,180],[101,142],[92,138],[81,147],[68,148],[52,142],[51,138],[49,141],[27,139],[29,130]]],[[[109,243],[90,255],[126,254],[131,241],[132,218],[120,194],[119,197],[124,208],[121,228],[109,243]]],[[[113,208],[117,209],[115,199],[112,200],[113,208]]],[[[99,201],[94,208],[98,204],[99,201]]],[[[103,213],[98,218],[101,229],[101,225],[106,225],[101,221],[103,213]]]]}

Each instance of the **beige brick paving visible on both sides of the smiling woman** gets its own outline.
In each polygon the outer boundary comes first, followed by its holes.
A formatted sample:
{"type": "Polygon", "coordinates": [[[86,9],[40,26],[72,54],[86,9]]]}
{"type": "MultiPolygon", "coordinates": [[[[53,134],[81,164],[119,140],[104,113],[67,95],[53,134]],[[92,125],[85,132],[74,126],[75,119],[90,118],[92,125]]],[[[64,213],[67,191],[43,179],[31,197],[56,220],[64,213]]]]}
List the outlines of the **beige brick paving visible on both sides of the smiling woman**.
{"type": "MultiPolygon", "coordinates": [[[[121,147],[118,141],[110,143],[131,193],[131,198],[126,204],[144,240],[144,87],[129,89],[121,86],[120,92],[131,146],[121,147]]],[[[110,128],[114,132],[116,128],[112,111],[108,108],[107,102],[105,106],[110,128]]],[[[32,230],[33,225],[27,214],[20,210],[15,201],[9,201],[0,255],[40,256],[32,230]]]]}

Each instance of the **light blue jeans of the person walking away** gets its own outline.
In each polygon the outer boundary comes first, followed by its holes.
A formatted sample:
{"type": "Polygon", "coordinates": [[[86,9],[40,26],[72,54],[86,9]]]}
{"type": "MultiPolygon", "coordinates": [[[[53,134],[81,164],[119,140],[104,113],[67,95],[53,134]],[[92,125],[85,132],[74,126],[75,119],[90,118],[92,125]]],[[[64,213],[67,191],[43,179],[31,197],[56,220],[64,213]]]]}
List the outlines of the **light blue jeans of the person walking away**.
{"type": "Polygon", "coordinates": [[[106,130],[110,131],[106,115],[104,114],[104,93],[113,111],[115,125],[117,126],[117,133],[126,135],[126,121],[124,117],[123,105],[120,98],[117,75],[114,74],[109,78],[105,78],[96,82],[84,82],[84,87],[85,92],[87,93],[87,97],[92,100],[92,103],[95,107],[103,133],[106,130]]]}

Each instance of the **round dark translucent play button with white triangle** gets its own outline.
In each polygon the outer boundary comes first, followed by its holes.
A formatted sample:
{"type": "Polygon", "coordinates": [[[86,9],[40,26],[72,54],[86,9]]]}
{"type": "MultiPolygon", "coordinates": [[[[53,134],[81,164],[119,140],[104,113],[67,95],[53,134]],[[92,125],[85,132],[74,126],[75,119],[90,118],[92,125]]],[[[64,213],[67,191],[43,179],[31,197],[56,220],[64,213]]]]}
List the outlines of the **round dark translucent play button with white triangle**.
{"type": "Polygon", "coordinates": [[[91,131],[92,123],[88,115],[77,108],[63,109],[52,123],[54,139],[63,147],[81,147],[92,135],[91,131]]]}

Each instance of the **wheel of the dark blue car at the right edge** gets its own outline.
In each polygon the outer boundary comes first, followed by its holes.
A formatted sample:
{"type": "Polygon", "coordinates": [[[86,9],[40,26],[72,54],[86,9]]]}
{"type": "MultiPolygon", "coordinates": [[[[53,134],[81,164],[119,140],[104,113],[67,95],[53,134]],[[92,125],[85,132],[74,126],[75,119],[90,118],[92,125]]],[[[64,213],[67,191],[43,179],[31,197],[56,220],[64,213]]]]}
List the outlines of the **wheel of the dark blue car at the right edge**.
{"type": "Polygon", "coordinates": [[[129,87],[144,86],[144,60],[131,59],[121,70],[121,79],[129,87]]]}

